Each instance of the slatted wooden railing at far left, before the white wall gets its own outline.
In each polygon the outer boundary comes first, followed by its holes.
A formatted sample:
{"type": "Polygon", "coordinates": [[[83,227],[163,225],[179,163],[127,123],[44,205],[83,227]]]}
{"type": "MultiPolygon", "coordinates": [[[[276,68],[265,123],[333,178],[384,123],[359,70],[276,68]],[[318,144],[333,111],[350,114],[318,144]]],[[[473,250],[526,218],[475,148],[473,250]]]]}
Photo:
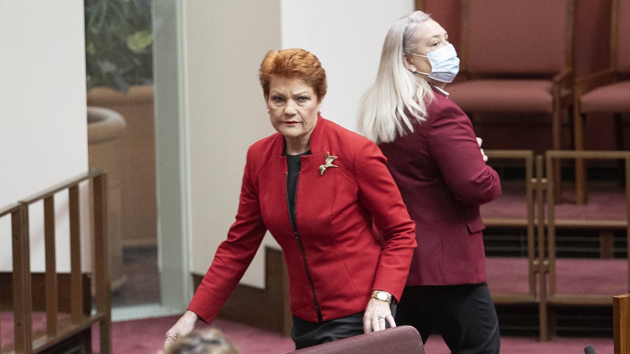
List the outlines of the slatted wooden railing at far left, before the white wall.
{"type": "MultiPolygon", "coordinates": [[[[0,210],[0,217],[11,215],[13,244],[13,312],[14,352],[37,354],[86,331],[93,324],[100,325],[100,353],[110,354],[111,348],[111,294],[107,261],[106,235],[106,180],[105,174],[91,171],[70,181],[9,205],[0,210]],[[81,232],[79,219],[79,184],[88,181],[92,187],[93,215],[93,282],[95,283],[96,311],[84,313],[83,273],[81,270],[81,232]],[[55,258],[55,193],[68,190],[70,221],[71,264],[71,322],[59,328],[57,321],[57,261],[55,258]],[[33,340],[30,245],[28,207],[43,200],[45,244],[45,308],[46,336],[33,340]]],[[[88,297],[89,298],[89,297],[88,297]]],[[[0,344],[1,347],[1,344],[0,344]]]]}

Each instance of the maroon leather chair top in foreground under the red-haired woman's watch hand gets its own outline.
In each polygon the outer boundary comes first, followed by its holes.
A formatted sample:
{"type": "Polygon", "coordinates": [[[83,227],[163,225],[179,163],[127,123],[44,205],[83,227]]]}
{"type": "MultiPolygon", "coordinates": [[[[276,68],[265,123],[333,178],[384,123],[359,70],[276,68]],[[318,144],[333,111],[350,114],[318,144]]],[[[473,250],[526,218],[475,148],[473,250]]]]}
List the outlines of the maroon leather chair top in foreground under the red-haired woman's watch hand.
{"type": "Polygon", "coordinates": [[[411,326],[398,326],[343,340],[311,346],[286,354],[425,354],[420,333],[411,326]]]}

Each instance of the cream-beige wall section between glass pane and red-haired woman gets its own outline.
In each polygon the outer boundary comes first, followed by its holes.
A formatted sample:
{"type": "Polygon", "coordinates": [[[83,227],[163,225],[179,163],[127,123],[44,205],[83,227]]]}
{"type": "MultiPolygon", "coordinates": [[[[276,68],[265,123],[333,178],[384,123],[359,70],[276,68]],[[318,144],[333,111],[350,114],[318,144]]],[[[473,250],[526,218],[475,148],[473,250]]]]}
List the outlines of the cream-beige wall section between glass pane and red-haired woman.
{"type": "MultiPolygon", "coordinates": [[[[258,67],[280,47],[280,1],[185,3],[191,269],[205,274],[238,208],[248,147],[274,132],[258,67]]],[[[266,237],[265,244],[273,244],[266,237]]],[[[263,287],[263,248],[243,283],[263,287]]]]}

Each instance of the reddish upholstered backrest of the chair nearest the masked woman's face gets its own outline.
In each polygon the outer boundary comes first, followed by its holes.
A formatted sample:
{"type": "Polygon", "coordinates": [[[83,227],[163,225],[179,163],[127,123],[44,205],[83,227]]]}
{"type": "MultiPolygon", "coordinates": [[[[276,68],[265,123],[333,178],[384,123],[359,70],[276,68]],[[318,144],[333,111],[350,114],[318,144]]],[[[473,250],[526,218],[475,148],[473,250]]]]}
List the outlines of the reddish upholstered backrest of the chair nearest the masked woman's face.
{"type": "Polygon", "coordinates": [[[553,75],[571,68],[573,0],[462,0],[462,71],[553,75]]]}

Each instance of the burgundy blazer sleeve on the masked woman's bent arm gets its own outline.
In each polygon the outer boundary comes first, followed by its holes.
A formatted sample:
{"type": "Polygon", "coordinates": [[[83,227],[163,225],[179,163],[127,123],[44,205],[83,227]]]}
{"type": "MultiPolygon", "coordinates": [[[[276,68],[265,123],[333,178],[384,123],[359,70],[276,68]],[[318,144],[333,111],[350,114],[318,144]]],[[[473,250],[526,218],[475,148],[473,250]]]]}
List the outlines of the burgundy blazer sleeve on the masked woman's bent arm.
{"type": "Polygon", "coordinates": [[[473,125],[459,107],[447,106],[429,123],[429,149],[455,198],[481,205],[501,195],[501,182],[486,165],[473,125]]]}

